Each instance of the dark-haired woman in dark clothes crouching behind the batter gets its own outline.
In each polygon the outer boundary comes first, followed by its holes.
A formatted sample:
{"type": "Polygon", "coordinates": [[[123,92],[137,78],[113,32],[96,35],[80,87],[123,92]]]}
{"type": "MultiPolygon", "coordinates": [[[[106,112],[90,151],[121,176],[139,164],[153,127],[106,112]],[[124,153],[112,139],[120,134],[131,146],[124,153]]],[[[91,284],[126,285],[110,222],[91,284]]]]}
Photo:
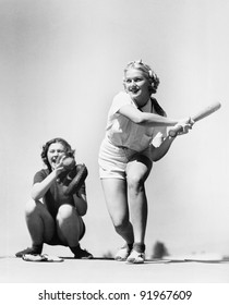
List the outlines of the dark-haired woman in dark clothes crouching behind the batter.
{"type": "Polygon", "coordinates": [[[85,234],[82,217],[87,211],[87,199],[84,182],[80,190],[72,187],[80,166],[75,166],[74,150],[63,138],[53,138],[44,145],[41,159],[47,168],[35,174],[32,199],[25,210],[32,247],[16,256],[40,255],[47,243],[70,247],[74,258],[92,258],[79,243],[85,234]]]}

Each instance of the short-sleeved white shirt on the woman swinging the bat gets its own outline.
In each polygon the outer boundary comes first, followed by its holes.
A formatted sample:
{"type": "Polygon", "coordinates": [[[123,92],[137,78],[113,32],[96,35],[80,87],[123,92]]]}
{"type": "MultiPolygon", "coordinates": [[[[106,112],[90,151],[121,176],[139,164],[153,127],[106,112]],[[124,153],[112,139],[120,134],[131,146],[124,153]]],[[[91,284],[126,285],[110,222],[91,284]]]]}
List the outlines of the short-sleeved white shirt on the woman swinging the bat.
{"type": "MultiPolygon", "coordinates": [[[[157,139],[166,136],[167,129],[164,126],[143,126],[132,122],[118,112],[125,105],[137,108],[129,94],[121,91],[114,96],[108,112],[106,127],[106,136],[109,141],[116,146],[124,146],[136,151],[146,149],[152,143],[158,146],[157,139]]],[[[150,99],[142,111],[156,113],[154,107],[152,109],[150,99]]]]}

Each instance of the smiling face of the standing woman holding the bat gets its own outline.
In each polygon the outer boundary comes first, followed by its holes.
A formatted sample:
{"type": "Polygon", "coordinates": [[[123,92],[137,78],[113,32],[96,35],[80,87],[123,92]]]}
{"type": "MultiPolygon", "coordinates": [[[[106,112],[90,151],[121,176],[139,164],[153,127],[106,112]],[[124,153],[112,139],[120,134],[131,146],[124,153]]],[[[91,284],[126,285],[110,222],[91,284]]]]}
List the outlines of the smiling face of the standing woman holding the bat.
{"type": "Polygon", "coordinates": [[[124,78],[125,90],[138,106],[145,105],[150,97],[149,82],[143,72],[137,69],[130,69],[124,78]]]}

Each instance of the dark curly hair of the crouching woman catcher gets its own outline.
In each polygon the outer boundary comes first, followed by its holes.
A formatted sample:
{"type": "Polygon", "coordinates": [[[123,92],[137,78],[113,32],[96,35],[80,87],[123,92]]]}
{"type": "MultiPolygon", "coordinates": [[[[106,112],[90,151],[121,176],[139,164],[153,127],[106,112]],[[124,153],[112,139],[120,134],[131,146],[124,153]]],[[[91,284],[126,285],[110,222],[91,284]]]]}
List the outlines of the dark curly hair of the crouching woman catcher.
{"type": "Polygon", "coordinates": [[[53,143],[60,143],[60,144],[63,145],[65,156],[73,157],[74,154],[75,154],[75,150],[72,149],[70,144],[65,139],[61,138],[61,137],[55,137],[55,138],[50,139],[50,141],[48,141],[43,146],[43,151],[41,151],[40,156],[41,156],[41,159],[43,159],[44,163],[48,167],[49,171],[51,170],[51,168],[50,168],[50,164],[49,164],[49,161],[48,161],[47,154],[48,154],[49,146],[51,144],[53,144],[53,143]]]}

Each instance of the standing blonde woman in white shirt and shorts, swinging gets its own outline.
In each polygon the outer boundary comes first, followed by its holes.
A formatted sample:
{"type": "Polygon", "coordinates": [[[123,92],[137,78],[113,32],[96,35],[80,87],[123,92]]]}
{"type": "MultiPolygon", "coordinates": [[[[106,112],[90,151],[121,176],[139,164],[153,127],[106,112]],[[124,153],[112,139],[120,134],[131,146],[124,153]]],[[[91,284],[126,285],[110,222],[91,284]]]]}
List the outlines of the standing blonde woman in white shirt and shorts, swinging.
{"type": "Polygon", "coordinates": [[[167,127],[181,126],[179,134],[193,125],[190,118],[173,120],[157,100],[159,80],[142,61],[133,61],[124,70],[124,90],[112,101],[108,113],[106,136],[99,150],[99,174],[116,232],[124,245],[116,260],[143,264],[147,198],[144,183],[154,161],[161,159],[177,133],[170,136],[167,127]]]}

